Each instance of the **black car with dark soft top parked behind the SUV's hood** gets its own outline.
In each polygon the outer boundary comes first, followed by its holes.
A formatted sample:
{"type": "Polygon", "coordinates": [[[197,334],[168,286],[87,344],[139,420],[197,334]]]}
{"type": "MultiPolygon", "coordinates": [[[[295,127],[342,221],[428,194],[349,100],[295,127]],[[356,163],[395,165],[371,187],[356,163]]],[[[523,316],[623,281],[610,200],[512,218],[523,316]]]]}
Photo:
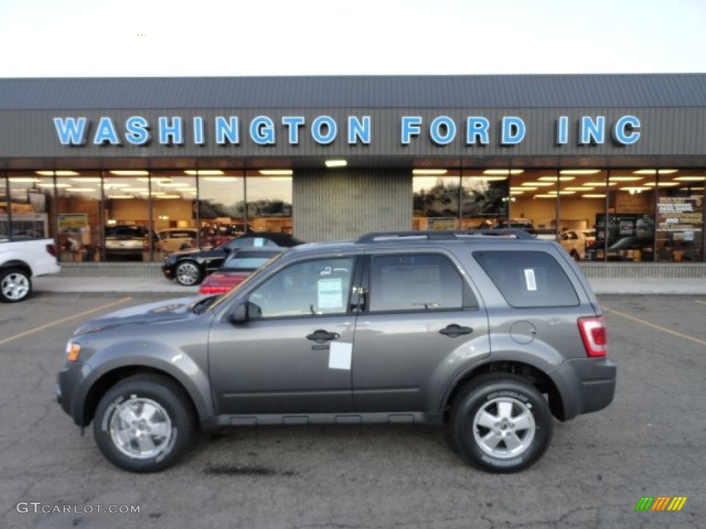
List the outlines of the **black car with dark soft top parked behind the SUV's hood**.
{"type": "Polygon", "coordinates": [[[289,248],[301,244],[298,238],[287,233],[252,232],[231,239],[216,248],[202,250],[189,248],[164,257],[162,272],[167,279],[176,279],[184,286],[198,285],[239,248],[289,248]]]}

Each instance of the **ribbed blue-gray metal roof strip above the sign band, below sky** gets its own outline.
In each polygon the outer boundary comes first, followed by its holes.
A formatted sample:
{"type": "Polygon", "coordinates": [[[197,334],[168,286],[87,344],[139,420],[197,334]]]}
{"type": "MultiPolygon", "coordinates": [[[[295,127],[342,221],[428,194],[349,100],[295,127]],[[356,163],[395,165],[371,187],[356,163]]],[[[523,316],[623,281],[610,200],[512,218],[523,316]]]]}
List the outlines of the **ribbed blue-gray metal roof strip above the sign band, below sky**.
{"type": "Polygon", "coordinates": [[[18,110],[705,106],[705,74],[0,79],[18,110]]]}

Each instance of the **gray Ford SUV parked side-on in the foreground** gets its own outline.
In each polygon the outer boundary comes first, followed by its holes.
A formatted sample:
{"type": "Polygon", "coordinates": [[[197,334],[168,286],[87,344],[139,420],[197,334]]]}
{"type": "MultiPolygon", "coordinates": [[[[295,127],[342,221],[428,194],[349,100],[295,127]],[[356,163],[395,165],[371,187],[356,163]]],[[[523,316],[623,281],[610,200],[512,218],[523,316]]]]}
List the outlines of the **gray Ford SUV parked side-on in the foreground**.
{"type": "Polygon", "coordinates": [[[198,429],[382,422],[448,427],[465,461],[510,473],[616,383],[585,277],[521,230],[300,245],[225,295],[87,322],[66,355],[62,408],[135,472],[198,429]]]}

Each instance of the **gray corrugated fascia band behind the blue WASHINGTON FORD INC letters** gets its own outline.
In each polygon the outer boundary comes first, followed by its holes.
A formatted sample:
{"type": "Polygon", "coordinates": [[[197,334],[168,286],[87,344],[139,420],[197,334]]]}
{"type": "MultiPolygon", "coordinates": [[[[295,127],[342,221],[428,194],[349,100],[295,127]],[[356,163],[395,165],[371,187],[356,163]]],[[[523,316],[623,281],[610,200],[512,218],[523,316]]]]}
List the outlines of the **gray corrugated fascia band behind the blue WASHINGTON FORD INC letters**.
{"type": "MultiPolygon", "coordinates": [[[[66,147],[61,145],[56,137],[52,111],[0,111],[0,159],[18,158],[55,158],[72,159],[85,157],[108,162],[111,159],[126,157],[144,158],[149,156],[152,162],[159,158],[191,157],[196,158],[261,158],[261,157],[345,157],[353,159],[364,157],[368,166],[373,166],[373,159],[378,162],[387,158],[406,159],[407,164],[412,159],[464,159],[464,166],[472,166],[474,159],[492,157],[501,163],[509,158],[521,158],[522,164],[541,162],[542,157],[552,160],[563,159],[566,164],[576,163],[572,159],[592,157],[594,164],[600,159],[611,159],[611,166],[630,164],[629,157],[663,157],[665,164],[684,164],[684,166],[706,165],[706,147],[703,142],[703,130],[706,123],[706,106],[698,109],[676,108],[635,108],[612,109],[609,107],[556,107],[553,109],[247,109],[233,111],[240,118],[240,145],[215,145],[213,140],[213,121],[216,115],[230,115],[225,111],[179,111],[177,115],[184,119],[186,140],[184,145],[165,147],[156,140],[148,147],[128,145],[121,147],[101,147],[92,144],[92,136],[82,147],[66,147]],[[625,112],[633,112],[640,116],[642,122],[641,139],[635,145],[622,147],[610,140],[610,127],[619,116],[625,112]],[[338,123],[337,140],[331,145],[320,145],[311,139],[310,124],[313,118],[323,114],[332,116],[338,123]],[[256,145],[248,136],[248,123],[258,114],[270,116],[275,123],[281,123],[282,116],[299,115],[306,118],[306,126],[301,129],[299,145],[289,145],[285,140],[285,130],[278,126],[277,145],[256,145]],[[452,116],[457,124],[457,138],[450,145],[438,146],[429,140],[429,123],[436,116],[446,114],[452,116]],[[371,116],[372,138],[370,145],[348,145],[346,141],[347,116],[371,116]],[[421,134],[410,145],[400,145],[401,116],[421,116],[424,120],[421,134]],[[606,116],[606,142],[603,145],[581,146],[577,144],[578,121],[581,116],[606,116]],[[191,137],[190,123],[193,116],[203,116],[206,126],[206,144],[194,145],[191,137]],[[465,145],[465,117],[485,116],[490,122],[490,143],[486,146],[465,145]],[[506,147],[500,145],[501,116],[519,116],[525,120],[527,135],[520,145],[506,147]],[[570,140],[567,145],[555,145],[556,119],[558,116],[570,118],[570,140]],[[13,126],[8,126],[13,123],[13,126]],[[532,160],[534,157],[537,160],[532,160]],[[691,159],[678,159],[692,157],[691,159]],[[694,158],[698,157],[698,159],[694,158]],[[669,162],[669,159],[673,162],[669,162]]],[[[124,123],[128,116],[144,116],[152,123],[152,133],[156,133],[157,116],[164,115],[160,111],[143,109],[115,110],[110,112],[120,134],[124,133],[124,123]]],[[[61,114],[60,114],[61,115],[61,114]]],[[[101,116],[100,111],[68,111],[64,116],[85,116],[95,127],[101,116]]],[[[173,114],[167,114],[173,115],[173,114]]],[[[556,165],[556,161],[547,159],[546,165],[556,165]]],[[[311,160],[310,160],[311,162],[311,160]]],[[[321,163],[321,160],[316,163],[321,163]]],[[[649,164],[649,162],[642,162],[649,164]]],[[[388,164],[390,165],[390,164],[388,164]]],[[[483,164],[480,164],[483,165],[483,164]]],[[[378,164],[379,166],[379,164],[378,164]]]]}

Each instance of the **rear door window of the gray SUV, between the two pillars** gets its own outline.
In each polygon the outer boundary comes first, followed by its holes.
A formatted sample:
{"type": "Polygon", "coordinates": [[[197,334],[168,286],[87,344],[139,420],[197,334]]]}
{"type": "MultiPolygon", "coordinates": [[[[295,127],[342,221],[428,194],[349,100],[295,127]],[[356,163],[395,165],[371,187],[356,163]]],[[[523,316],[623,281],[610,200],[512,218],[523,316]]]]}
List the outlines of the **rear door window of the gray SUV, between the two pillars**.
{"type": "MultiPolygon", "coordinates": [[[[443,255],[373,256],[369,310],[450,310],[464,307],[472,294],[443,255]]],[[[473,305],[473,303],[471,303],[473,305]]]]}

